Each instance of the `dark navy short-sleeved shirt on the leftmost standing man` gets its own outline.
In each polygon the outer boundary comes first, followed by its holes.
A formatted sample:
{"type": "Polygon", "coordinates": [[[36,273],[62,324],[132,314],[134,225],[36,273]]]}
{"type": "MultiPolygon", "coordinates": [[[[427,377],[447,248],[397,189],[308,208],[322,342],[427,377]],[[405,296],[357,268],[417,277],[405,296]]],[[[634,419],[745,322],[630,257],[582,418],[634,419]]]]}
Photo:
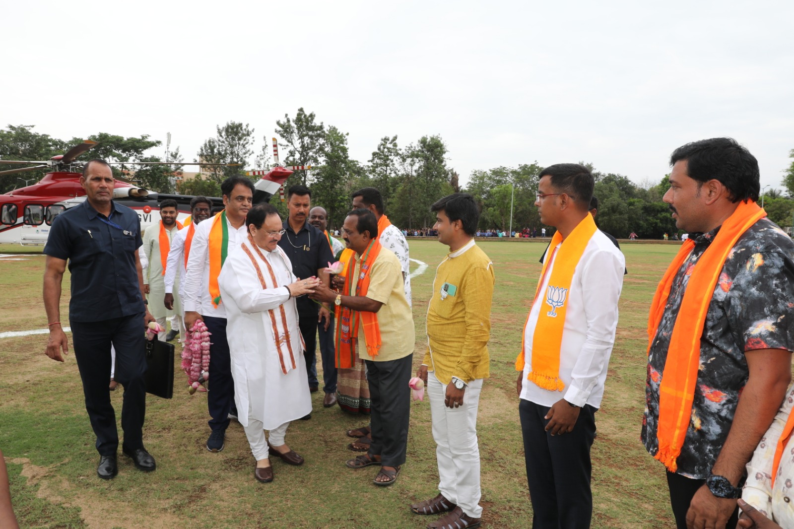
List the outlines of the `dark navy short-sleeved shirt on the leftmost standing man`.
{"type": "Polygon", "coordinates": [[[71,321],[99,322],[145,311],[135,259],[142,244],[138,215],[114,201],[110,217],[88,200],[56,217],[44,253],[69,261],[71,321]]]}

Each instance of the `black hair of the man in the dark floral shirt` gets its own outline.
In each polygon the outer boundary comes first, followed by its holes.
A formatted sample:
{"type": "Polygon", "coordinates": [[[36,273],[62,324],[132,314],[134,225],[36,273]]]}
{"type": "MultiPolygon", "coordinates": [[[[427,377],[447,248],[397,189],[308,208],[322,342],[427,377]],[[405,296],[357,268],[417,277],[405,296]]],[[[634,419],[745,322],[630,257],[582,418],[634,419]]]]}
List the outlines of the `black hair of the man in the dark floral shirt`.
{"type": "Polygon", "coordinates": [[[732,137],[712,137],[681,145],[670,155],[670,166],[686,160],[687,176],[703,185],[719,180],[730,191],[730,199],[757,200],[761,191],[758,160],[732,137]]]}

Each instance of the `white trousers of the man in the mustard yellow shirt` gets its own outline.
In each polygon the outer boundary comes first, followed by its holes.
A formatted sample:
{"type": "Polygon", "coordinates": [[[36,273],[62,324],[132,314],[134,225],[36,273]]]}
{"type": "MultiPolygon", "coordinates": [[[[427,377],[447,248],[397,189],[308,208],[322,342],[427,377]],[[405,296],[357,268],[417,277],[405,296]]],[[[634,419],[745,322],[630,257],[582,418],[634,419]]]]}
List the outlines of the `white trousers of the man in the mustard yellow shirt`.
{"type": "Polygon", "coordinates": [[[477,445],[477,407],[483,379],[468,383],[463,406],[446,407],[446,385],[427,373],[427,393],[433,418],[433,438],[438,461],[438,490],[463,512],[480,518],[480,447],[477,445]]]}

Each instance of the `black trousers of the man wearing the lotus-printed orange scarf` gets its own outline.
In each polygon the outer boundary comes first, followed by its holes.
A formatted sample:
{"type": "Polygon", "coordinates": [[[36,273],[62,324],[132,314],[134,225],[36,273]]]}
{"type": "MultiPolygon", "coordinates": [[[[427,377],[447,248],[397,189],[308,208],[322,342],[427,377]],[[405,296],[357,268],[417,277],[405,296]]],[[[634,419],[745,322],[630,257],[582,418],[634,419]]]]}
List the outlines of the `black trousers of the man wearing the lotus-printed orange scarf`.
{"type": "Polygon", "coordinates": [[[530,485],[534,529],[590,527],[590,447],[595,438],[595,407],[585,404],[569,434],[545,431],[549,407],[521,400],[518,415],[524,438],[526,481],[530,485]]]}

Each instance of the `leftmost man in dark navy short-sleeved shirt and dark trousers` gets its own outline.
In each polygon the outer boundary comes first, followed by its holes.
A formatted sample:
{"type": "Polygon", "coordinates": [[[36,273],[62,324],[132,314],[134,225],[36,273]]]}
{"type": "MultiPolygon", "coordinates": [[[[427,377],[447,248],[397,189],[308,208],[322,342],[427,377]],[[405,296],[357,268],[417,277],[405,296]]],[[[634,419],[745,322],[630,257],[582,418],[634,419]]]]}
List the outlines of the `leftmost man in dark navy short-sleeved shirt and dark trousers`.
{"type": "Polygon", "coordinates": [[[91,160],[80,184],[86,201],[52,222],[44,253],[44,308],[49,322],[47,356],[64,361],[69,342],[60,322],[64,271],[71,272],[69,325],[75,360],[83,380],[86,410],[97,436],[97,474],[109,480],[118,473],[116,414],[110,404],[107,375],[110,346],[116,349],[115,379],[124,386],[121,407],[122,451],[137,469],[155,469],[144,448],[146,358],[144,328],[154,321],[141,292],[141,222],[129,207],[113,201],[114,179],[105,160],[91,160]]]}

